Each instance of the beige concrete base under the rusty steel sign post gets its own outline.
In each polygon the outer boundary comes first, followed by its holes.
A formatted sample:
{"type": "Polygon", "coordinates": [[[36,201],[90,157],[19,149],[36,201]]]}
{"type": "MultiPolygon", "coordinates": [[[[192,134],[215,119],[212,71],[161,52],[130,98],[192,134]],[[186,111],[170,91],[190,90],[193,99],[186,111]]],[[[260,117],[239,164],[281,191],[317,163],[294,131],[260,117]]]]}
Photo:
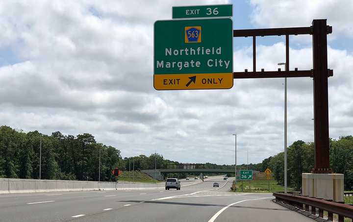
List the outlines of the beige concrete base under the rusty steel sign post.
{"type": "Polygon", "coordinates": [[[344,201],[344,174],[302,173],[303,196],[344,201]]]}

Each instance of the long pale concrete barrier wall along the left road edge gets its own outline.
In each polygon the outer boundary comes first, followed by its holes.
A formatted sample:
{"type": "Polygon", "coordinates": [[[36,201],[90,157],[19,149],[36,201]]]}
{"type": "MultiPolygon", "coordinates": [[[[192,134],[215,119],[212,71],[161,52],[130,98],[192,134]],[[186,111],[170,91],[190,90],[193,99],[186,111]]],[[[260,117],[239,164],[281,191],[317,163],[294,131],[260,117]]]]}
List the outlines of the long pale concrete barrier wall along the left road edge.
{"type": "Polygon", "coordinates": [[[85,191],[85,190],[146,190],[164,189],[162,183],[95,182],[76,180],[36,180],[0,178],[0,194],[85,191]]]}

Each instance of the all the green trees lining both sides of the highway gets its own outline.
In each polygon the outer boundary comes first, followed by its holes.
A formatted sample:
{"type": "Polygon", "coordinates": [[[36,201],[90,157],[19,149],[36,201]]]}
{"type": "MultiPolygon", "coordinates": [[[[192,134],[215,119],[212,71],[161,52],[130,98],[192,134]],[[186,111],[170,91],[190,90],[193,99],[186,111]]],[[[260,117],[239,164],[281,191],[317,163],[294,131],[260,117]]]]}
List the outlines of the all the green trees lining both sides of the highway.
{"type": "MultiPolygon", "coordinates": [[[[50,136],[32,131],[25,133],[9,126],[0,126],[0,177],[39,178],[40,144],[42,147],[41,178],[67,180],[99,180],[99,156],[101,153],[101,181],[114,181],[111,171],[167,168],[168,164],[180,164],[164,159],[158,153],[122,158],[121,151],[112,146],[97,143],[89,133],[63,135],[53,132],[50,136]]],[[[288,185],[299,190],[302,173],[314,167],[314,144],[298,140],[288,147],[288,185]]],[[[208,169],[234,169],[234,165],[205,163],[208,169]]],[[[273,178],[284,184],[284,152],[264,159],[258,164],[249,164],[250,170],[264,172],[270,168],[273,178]]],[[[330,139],[330,168],[334,173],[343,173],[345,189],[353,190],[353,136],[330,139]]],[[[248,169],[245,164],[237,169],[248,169]]],[[[176,176],[176,175],[173,175],[176,176]]]]}

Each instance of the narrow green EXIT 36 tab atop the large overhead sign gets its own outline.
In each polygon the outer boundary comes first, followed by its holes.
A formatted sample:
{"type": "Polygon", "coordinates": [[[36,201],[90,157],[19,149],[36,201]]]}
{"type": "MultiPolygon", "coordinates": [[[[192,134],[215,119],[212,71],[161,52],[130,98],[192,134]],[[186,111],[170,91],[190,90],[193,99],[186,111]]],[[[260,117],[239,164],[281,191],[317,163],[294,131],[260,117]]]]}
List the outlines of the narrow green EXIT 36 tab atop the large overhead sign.
{"type": "Polygon", "coordinates": [[[232,17],[232,4],[173,6],[173,19],[232,17]]]}

